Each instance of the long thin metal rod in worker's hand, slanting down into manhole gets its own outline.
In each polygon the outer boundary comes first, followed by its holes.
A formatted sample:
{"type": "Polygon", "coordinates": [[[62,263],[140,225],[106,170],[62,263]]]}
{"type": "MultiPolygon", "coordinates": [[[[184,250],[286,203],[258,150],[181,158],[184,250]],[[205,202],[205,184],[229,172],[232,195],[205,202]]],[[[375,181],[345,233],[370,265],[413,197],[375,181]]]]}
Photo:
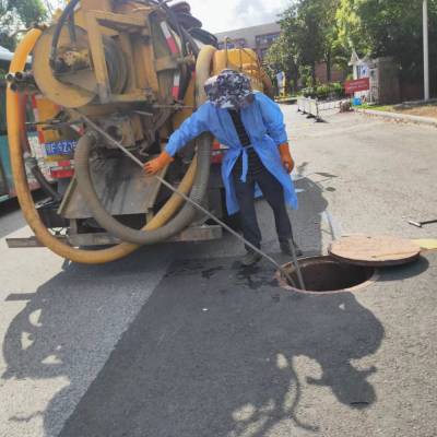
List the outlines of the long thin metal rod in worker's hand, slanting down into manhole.
{"type": "MultiPolygon", "coordinates": [[[[86,116],[83,114],[75,111],[80,114],[81,118],[90,125],[94,130],[96,130],[98,133],[101,133],[103,137],[105,137],[106,140],[108,140],[111,144],[116,145],[118,149],[121,150],[127,156],[129,156],[134,163],[137,163],[141,168],[143,168],[144,164],[131,152],[129,152],[122,144],[120,144],[117,140],[115,140],[111,135],[109,135],[107,132],[105,132],[99,126],[97,126],[94,121],[90,120],[86,116]]],[[[206,216],[209,216],[211,220],[213,220],[215,223],[217,223],[220,226],[222,226],[224,229],[226,229],[229,234],[234,235],[234,237],[238,238],[241,240],[247,247],[249,247],[251,250],[260,255],[262,258],[265,258],[269,262],[271,262],[290,282],[290,284],[294,287],[296,287],[295,282],[293,281],[293,277],[288,274],[288,272],[280,265],[272,257],[263,252],[261,249],[258,247],[253,246],[250,241],[248,241],[246,238],[244,238],[241,235],[239,235],[236,231],[234,231],[232,227],[229,227],[226,223],[221,221],[218,217],[216,217],[213,213],[208,211],[205,208],[203,208],[201,204],[194,202],[192,199],[190,199],[187,194],[184,192],[178,191],[172,184],[167,182],[165,179],[163,179],[161,176],[154,175],[154,177],[160,180],[161,184],[163,184],[165,187],[167,187],[169,190],[173,192],[179,194],[184,200],[186,200],[188,203],[190,203],[192,206],[194,206],[198,211],[202,212],[206,216]]],[[[296,250],[294,247],[293,241],[291,243],[291,248],[292,248],[292,257],[293,257],[293,263],[296,269],[297,273],[297,279],[299,281],[299,286],[300,290],[306,290],[305,287],[305,282],[304,277],[300,272],[299,263],[297,262],[297,257],[296,257],[296,250]]]]}

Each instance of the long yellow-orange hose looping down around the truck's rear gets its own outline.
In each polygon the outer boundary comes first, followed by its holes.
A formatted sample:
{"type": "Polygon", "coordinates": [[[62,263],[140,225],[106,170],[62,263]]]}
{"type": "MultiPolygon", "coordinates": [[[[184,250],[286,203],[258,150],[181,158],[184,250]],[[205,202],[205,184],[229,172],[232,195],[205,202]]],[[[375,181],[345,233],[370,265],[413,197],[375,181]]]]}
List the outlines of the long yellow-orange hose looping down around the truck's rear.
{"type": "MultiPolygon", "coordinates": [[[[35,28],[29,31],[24,36],[24,38],[19,44],[14,57],[11,61],[9,70],[11,73],[23,71],[25,69],[27,56],[31,54],[40,34],[42,31],[35,28]]],[[[209,57],[204,58],[205,61],[208,61],[208,58],[209,57]]],[[[201,70],[209,71],[210,63],[200,63],[200,66],[201,70]]],[[[19,94],[12,92],[10,87],[8,87],[7,91],[7,117],[8,140],[16,196],[20,202],[20,206],[23,211],[23,215],[31,226],[32,231],[35,233],[35,236],[39,240],[39,243],[42,243],[44,246],[46,246],[62,258],[67,258],[73,262],[80,262],[84,264],[102,264],[106,262],[111,262],[123,258],[138,249],[138,245],[122,243],[108,249],[81,250],[66,245],[50,234],[50,232],[46,228],[46,226],[39,218],[38,212],[36,211],[34,201],[32,199],[31,190],[27,182],[27,176],[24,168],[23,152],[21,145],[21,130],[24,126],[24,120],[22,118],[22,111],[20,110],[19,94]]],[[[196,167],[197,160],[193,160],[179,186],[179,190],[186,194],[191,190],[196,175],[196,167]]],[[[179,196],[172,196],[167,203],[163,206],[163,209],[144,227],[144,231],[152,231],[163,226],[180,208],[182,202],[184,199],[179,196]]]]}

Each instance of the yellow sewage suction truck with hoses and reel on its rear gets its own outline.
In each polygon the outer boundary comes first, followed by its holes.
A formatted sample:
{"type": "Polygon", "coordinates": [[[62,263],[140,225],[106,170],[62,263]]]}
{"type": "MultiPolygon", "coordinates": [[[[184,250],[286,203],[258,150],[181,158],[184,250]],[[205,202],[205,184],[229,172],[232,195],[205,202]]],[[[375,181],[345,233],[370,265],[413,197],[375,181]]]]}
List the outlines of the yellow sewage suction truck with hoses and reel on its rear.
{"type": "MultiPolygon", "coordinates": [[[[218,49],[187,2],[70,0],[50,24],[29,29],[11,61],[7,115],[16,196],[35,235],[11,238],[10,247],[45,246],[95,264],[142,245],[221,238],[220,226],[146,177],[107,135],[141,162],[152,160],[205,101],[206,79],[225,68],[245,72],[253,88],[272,96],[257,54],[227,44],[218,49]],[[32,132],[39,149],[28,145],[32,132]],[[28,169],[44,201],[32,197],[28,169]]],[[[224,152],[202,134],[160,176],[226,218],[224,152]]]]}

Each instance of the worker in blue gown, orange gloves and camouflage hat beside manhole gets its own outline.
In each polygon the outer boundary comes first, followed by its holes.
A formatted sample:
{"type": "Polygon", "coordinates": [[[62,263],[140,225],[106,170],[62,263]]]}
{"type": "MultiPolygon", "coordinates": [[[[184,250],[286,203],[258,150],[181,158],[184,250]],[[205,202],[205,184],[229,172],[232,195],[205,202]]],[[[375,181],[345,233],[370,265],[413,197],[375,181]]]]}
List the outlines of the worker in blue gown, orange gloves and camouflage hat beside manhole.
{"type": "MultiPolygon", "coordinates": [[[[161,155],[144,165],[147,174],[156,174],[173,156],[202,132],[210,131],[229,149],[222,164],[229,214],[240,212],[244,237],[261,247],[261,232],[255,210],[258,184],[273,210],[282,252],[292,255],[292,225],[288,204],[297,209],[297,198],[290,176],[294,161],[290,153],[284,118],[280,107],[268,96],[251,88],[250,80],[234,70],[223,70],[204,84],[209,101],[177,129],[161,155]]],[[[250,248],[244,265],[257,263],[261,257],[250,248]]],[[[302,255],[297,248],[297,253],[302,255]]]]}

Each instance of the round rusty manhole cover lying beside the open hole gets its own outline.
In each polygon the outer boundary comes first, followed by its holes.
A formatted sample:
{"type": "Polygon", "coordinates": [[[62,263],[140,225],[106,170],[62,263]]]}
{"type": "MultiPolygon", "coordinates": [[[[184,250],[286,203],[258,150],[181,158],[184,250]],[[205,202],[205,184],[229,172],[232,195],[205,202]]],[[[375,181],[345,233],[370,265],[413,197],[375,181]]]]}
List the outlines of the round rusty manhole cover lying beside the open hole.
{"type": "Polygon", "coordinates": [[[405,264],[421,255],[421,248],[410,239],[365,235],[342,237],[328,251],[341,261],[374,267],[405,264]]]}

